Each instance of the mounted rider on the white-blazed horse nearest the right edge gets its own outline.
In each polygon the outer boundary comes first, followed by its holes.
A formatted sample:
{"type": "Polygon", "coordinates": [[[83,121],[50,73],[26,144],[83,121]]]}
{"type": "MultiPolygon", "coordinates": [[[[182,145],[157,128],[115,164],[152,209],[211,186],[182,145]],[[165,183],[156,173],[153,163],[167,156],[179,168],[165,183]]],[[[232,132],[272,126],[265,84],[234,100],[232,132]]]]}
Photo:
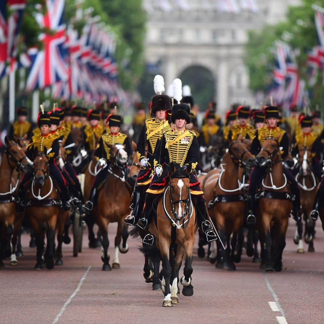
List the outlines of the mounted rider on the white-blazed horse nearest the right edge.
{"type": "MultiPolygon", "coordinates": [[[[320,137],[312,132],[313,121],[311,116],[301,117],[299,124],[302,128],[302,132],[295,136],[295,144],[291,153],[293,156],[296,156],[299,153],[299,147],[311,150],[313,171],[315,176],[320,180],[322,177],[322,167],[319,161],[323,156],[323,146],[320,137]]],[[[299,165],[294,169],[293,174],[296,175],[298,172],[299,165]]]]}

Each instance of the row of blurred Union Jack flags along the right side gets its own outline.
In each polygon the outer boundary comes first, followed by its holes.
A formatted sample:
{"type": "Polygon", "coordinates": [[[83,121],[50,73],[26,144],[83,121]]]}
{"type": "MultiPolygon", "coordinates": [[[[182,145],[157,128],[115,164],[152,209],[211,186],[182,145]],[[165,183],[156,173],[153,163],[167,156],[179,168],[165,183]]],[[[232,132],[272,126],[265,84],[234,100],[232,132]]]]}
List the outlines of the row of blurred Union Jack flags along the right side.
{"type": "MultiPolygon", "coordinates": [[[[324,84],[324,8],[316,7],[315,26],[318,45],[307,56],[307,84],[315,85],[318,73],[322,73],[324,84]]],[[[294,51],[284,42],[276,43],[275,67],[268,95],[285,108],[290,105],[303,106],[307,100],[306,80],[300,78],[294,51]]]]}

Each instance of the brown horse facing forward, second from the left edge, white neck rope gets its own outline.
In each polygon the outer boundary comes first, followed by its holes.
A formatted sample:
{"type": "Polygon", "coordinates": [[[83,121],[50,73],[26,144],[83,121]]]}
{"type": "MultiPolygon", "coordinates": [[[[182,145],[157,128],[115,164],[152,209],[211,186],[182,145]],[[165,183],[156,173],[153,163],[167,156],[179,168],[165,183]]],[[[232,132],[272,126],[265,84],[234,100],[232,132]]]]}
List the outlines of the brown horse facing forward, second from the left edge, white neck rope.
{"type": "Polygon", "coordinates": [[[49,175],[49,159],[46,148],[38,152],[34,159],[34,177],[27,194],[28,202],[25,209],[30,224],[34,230],[37,246],[36,270],[41,270],[45,233],[47,238],[45,264],[47,269],[54,267],[55,230],[58,228],[55,265],[62,265],[63,231],[69,211],[64,211],[59,204],[59,194],[55,190],[53,180],[49,175]]]}

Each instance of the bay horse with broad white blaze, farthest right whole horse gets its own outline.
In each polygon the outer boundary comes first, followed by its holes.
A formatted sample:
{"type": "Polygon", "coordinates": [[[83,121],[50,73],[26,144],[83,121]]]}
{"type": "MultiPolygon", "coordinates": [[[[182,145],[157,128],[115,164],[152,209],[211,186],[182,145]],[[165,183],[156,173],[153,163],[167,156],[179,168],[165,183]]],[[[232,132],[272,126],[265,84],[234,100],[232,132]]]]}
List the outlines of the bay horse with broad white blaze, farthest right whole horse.
{"type": "MultiPolygon", "coordinates": [[[[305,242],[308,243],[308,252],[314,252],[315,221],[309,217],[315,201],[317,180],[312,171],[312,151],[307,147],[298,146],[299,172],[295,176],[300,192],[301,213],[305,221],[305,242]]],[[[304,253],[303,221],[297,222],[294,243],[298,244],[297,253],[304,253]]]]}

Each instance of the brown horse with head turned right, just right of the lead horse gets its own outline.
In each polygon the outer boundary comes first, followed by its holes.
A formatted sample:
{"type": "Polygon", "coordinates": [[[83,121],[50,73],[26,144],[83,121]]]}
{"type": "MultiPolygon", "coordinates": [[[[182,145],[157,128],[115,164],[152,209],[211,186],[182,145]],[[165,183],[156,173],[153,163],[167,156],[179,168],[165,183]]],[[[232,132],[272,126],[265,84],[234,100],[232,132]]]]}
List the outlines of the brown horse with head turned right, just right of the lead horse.
{"type": "Polygon", "coordinates": [[[249,152],[247,145],[241,140],[234,141],[223,156],[221,172],[210,171],[203,187],[206,201],[209,202],[210,217],[219,230],[220,239],[224,244],[227,244],[225,250],[221,249],[219,243],[217,243],[218,252],[220,252],[217,253],[217,263],[219,267],[226,268],[228,266],[228,270],[236,270],[234,252],[237,236],[244,223],[244,183],[240,182],[239,169],[251,168],[254,163],[255,159],[249,152]],[[231,235],[233,237],[230,242],[231,235]]]}

